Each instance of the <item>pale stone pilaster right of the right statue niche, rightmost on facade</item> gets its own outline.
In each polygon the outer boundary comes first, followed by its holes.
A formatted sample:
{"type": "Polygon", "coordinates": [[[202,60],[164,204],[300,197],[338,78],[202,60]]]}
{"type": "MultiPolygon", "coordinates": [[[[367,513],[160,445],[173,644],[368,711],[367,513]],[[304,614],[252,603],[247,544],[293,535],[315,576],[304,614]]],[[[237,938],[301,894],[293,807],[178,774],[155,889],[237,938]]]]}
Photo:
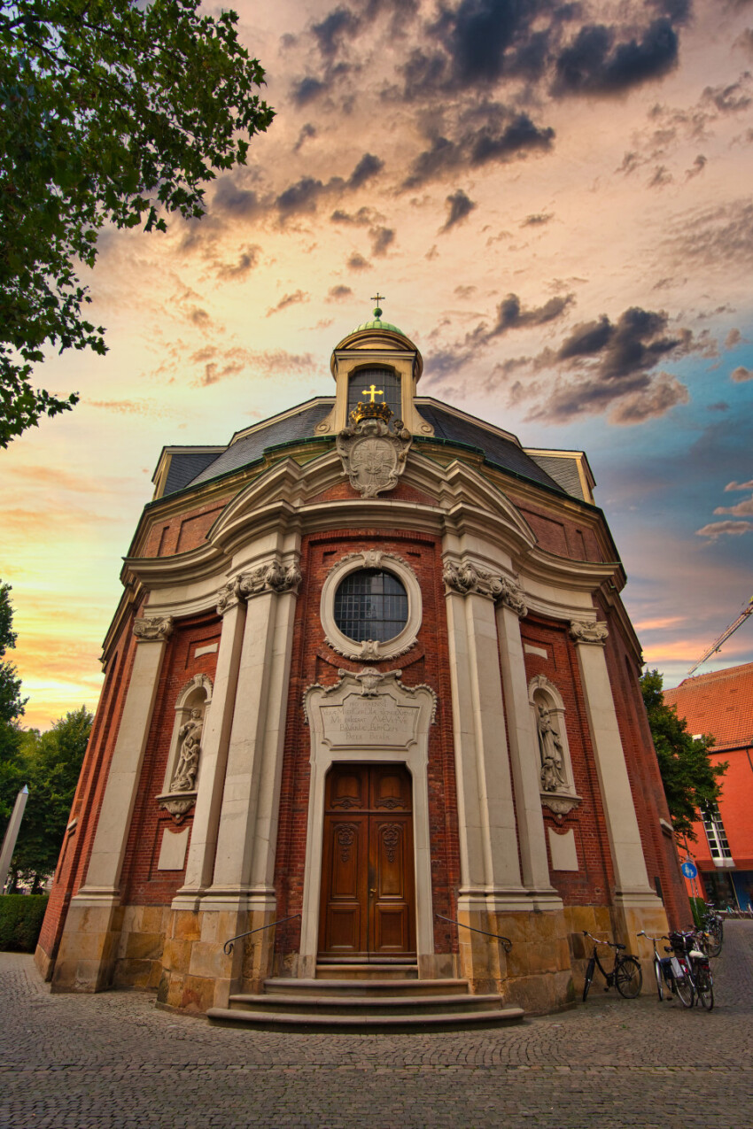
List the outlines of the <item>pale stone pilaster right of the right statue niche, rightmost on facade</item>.
{"type": "Polygon", "coordinates": [[[577,645],[586,714],[612,850],[616,896],[656,896],[648,884],[643,847],[604,655],[606,624],[572,622],[570,634],[577,645]]]}

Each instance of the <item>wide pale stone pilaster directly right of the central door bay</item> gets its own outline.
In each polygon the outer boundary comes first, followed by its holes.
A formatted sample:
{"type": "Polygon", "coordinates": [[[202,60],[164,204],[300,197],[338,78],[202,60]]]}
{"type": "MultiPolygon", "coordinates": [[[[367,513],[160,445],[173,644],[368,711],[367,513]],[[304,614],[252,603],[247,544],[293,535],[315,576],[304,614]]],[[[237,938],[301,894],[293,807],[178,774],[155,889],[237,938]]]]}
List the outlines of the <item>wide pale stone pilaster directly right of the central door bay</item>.
{"type": "Polygon", "coordinates": [[[515,805],[494,620],[494,578],[447,561],[449,666],[458,791],[463,908],[527,904],[520,882],[515,805]]]}

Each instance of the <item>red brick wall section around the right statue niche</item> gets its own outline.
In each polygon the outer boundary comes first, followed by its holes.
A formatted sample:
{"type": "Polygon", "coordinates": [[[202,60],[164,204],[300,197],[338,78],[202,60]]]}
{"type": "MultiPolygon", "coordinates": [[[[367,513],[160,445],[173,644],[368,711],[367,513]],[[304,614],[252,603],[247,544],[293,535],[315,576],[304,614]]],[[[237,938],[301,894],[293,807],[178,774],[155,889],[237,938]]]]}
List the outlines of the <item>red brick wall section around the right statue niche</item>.
{"type": "Polygon", "coordinates": [[[542,808],[546,829],[557,832],[572,829],[578,852],[579,869],[571,872],[551,870],[550,857],[552,885],[566,905],[605,905],[612,901],[614,872],[575,644],[568,624],[533,614],[520,621],[520,637],[524,646],[529,644],[546,650],[546,658],[525,654],[526,677],[531,681],[543,674],[562,695],[573,781],[578,796],[583,797],[578,807],[560,817],[542,808]]]}

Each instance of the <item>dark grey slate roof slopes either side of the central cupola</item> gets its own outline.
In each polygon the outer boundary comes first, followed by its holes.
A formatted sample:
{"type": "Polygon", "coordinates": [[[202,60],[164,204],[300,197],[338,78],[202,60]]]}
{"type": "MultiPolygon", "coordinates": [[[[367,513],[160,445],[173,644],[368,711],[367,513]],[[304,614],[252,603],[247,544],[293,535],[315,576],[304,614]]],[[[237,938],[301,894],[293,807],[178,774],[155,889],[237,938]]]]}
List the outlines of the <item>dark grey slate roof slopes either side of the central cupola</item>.
{"type": "MultiPolygon", "coordinates": [[[[330,396],[308,401],[282,418],[273,417],[247,435],[242,434],[219,454],[217,452],[182,454],[175,450],[163,497],[248,466],[260,460],[270,447],[300,439],[313,439],[316,425],[329,415],[334,400],[330,396]]],[[[482,452],[490,463],[502,470],[511,471],[558,493],[567,492],[576,498],[583,498],[575,462],[572,474],[567,469],[569,464],[566,460],[550,458],[542,465],[543,458],[533,458],[514,439],[484,427],[481,421],[474,422],[471,418],[458,415],[450,408],[436,401],[419,401],[417,406],[421,415],[434,427],[436,439],[472,447],[482,452]]]]}

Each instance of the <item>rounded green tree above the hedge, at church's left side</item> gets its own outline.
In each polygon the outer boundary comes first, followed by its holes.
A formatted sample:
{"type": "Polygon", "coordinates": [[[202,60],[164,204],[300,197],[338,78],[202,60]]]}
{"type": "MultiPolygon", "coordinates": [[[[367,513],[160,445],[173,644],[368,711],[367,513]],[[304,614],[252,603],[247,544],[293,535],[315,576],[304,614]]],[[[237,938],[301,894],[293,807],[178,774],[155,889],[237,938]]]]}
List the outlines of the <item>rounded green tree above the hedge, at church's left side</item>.
{"type": "MultiPolygon", "coordinates": [[[[12,886],[32,883],[36,893],[56,866],[76,793],[93,715],[81,706],[47,729],[21,733],[12,799],[24,785],[28,802],[10,864],[12,886]]],[[[6,798],[6,803],[10,796],[6,798]]],[[[11,802],[12,807],[12,802],[11,802]]]]}

